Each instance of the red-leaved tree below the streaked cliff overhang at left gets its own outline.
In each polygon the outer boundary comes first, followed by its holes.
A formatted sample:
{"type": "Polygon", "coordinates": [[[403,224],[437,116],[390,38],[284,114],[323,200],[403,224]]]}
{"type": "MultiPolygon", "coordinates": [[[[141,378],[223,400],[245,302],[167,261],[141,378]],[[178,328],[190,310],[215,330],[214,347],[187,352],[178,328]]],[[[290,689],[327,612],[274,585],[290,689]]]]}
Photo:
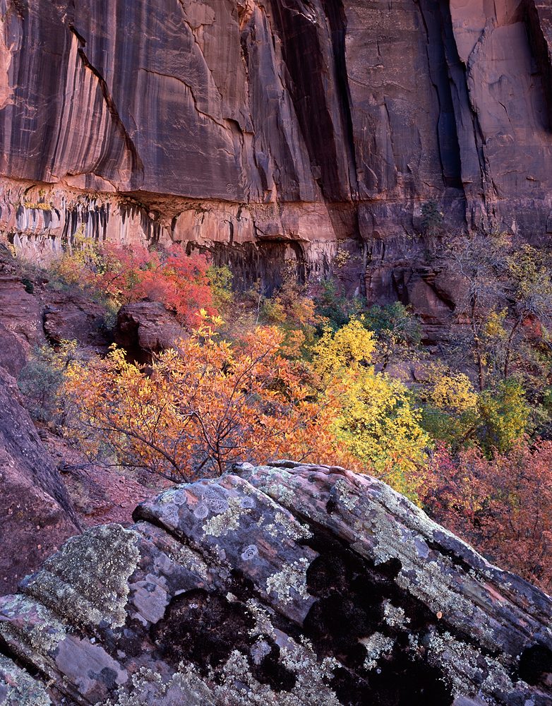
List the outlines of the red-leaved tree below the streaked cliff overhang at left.
{"type": "Polygon", "coordinates": [[[164,251],[140,246],[97,245],[84,241],[57,265],[59,275],[78,282],[116,306],[148,297],[176,312],[186,327],[198,325],[200,309],[215,314],[209,286],[209,260],[186,255],[179,244],[164,251]]]}

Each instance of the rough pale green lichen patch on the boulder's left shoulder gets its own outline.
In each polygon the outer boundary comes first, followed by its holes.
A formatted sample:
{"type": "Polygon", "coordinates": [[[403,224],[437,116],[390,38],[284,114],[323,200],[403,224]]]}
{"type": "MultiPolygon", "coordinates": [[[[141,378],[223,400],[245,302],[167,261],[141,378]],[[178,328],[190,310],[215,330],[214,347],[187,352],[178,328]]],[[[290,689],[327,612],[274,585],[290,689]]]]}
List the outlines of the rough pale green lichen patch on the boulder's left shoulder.
{"type": "Polygon", "coordinates": [[[104,620],[123,626],[128,578],[140,557],[139,537],[120,525],[94,527],[66,542],[23,590],[72,625],[104,620]]]}

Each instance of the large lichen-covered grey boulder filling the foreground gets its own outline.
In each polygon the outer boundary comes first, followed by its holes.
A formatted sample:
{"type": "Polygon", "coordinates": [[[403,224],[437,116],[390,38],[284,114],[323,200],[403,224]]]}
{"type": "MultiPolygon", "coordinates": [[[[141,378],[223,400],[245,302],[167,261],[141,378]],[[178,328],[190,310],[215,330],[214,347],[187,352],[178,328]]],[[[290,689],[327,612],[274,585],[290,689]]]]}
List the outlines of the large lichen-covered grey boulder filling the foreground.
{"type": "Polygon", "coordinates": [[[0,599],[2,706],[23,666],[64,705],[552,706],[551,599],[380,481],[241,464],[134,519],[0,599]]]}

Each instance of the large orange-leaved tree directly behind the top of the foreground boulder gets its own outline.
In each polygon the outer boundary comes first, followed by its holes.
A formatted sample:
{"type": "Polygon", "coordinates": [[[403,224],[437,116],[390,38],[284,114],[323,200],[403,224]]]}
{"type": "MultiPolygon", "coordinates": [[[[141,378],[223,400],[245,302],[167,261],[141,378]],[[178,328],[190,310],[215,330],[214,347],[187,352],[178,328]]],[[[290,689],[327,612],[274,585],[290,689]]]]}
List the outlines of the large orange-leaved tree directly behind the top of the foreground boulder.
{"type": "Polygon", "coordinates": [[[304,364],[280,356],[283,337],[257,328],[229,345],[203,324],[147,370],[116,348],[75,364],[74,431],[93,455],[107,449],[121,465],[184,481],[239,461],[341,460],[330,431],[335,400],[316,393],[304,364]]]}

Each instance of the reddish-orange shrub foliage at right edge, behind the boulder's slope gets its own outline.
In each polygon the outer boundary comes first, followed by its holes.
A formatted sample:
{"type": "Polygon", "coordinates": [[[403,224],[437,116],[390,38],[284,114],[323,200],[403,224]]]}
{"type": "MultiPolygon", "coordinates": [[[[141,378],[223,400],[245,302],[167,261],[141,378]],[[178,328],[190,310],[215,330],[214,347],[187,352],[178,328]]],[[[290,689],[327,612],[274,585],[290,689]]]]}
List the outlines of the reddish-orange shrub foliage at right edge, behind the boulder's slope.
{"type": "Polygon", "coordinates": [[[486,460],[440,447],[426,469],[425,508],[499,566],[552,587],[552,442],[520,441],[486,460]]]}

